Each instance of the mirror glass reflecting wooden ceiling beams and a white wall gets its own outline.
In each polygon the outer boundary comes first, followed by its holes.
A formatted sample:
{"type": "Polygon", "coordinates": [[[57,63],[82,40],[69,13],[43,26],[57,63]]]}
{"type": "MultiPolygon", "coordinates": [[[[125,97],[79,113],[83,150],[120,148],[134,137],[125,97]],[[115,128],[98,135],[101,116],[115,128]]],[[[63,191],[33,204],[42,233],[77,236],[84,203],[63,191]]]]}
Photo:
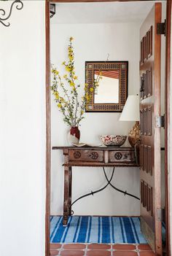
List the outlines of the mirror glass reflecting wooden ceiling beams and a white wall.
{"type": "MultiPolygon", "coordinates": [[[[94,71],[94,79],[96,80],[100,71],[94,71]]],[[[119,104],[119,70],[101,70],[101,77],[98,88],[94,92],[95,104],[119,104]]]]}

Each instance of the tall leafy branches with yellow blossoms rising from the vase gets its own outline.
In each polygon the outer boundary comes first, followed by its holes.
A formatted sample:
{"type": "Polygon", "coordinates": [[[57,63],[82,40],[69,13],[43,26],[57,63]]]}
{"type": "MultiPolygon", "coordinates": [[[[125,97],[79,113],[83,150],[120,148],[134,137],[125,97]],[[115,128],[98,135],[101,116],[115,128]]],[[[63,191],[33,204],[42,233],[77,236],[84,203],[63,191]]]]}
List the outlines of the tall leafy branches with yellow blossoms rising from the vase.
{"type": "Polygon", "coordinates": [[[53,77],[51,90],[53,98],[55,98],[56,106],[58,106],[58,109],[65,117],[64,122],[68,123],[68,125],[71,125],[74,117],[76,123],[79,123],[84,118],[85,105],[89,104],[90,101],[93,101],[92,92],[95,90],[96,86],[98,86],[102,75],[101,70],[99,70],[98,77],[94,79],[92,86],[89,82],[85,83],[85,92],[80,96],[79,90],[81,85],[78,82],[77,73],[74,68],[75,54],[74,46],[72,44],[73,40],[74,38],[70,37],[69,44],[67,46],[67,60],[63,61],[61,64],[64,68],[63,74],[60,74],[60,71],[58,71],[55,66],[51,66],[53,77]],[[62,94],[58,92],[59,87],[62,89],[62,94]]]}

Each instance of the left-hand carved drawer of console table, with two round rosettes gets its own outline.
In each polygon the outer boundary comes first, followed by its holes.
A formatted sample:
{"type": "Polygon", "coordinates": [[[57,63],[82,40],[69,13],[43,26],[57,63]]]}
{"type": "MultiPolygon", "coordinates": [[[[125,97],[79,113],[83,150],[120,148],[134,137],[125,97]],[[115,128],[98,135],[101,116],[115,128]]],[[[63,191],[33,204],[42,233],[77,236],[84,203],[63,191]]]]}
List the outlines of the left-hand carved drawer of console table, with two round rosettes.
{"type": "Polygon", "coordinates": [[[103,162],[103,150],[70,150],[69,161],[103,162]]]}

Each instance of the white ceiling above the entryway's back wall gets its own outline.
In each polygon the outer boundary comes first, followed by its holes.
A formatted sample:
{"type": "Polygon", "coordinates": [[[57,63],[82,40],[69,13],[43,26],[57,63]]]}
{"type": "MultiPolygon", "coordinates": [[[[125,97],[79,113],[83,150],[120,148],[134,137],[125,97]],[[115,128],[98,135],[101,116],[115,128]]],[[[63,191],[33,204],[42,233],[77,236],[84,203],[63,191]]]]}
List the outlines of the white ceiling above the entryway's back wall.
{"type": "Polygon", "coordinates": [[[155,1],[58,3],[51,23],[141,23],[154,3],[155,1]]]}

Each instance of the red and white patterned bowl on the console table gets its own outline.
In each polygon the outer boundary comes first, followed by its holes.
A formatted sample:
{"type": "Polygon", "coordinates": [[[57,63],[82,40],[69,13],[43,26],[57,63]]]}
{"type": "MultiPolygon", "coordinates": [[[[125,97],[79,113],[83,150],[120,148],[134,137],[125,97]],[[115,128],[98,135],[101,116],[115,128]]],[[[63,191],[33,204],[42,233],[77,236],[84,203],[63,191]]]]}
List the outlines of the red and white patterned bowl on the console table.
{"type": "Polygon", "coordinates": [[[108,147],[120,147],[127,139],[127,136],[122,135],[101,135],[100,137],[103,144],[108,147]]]}

